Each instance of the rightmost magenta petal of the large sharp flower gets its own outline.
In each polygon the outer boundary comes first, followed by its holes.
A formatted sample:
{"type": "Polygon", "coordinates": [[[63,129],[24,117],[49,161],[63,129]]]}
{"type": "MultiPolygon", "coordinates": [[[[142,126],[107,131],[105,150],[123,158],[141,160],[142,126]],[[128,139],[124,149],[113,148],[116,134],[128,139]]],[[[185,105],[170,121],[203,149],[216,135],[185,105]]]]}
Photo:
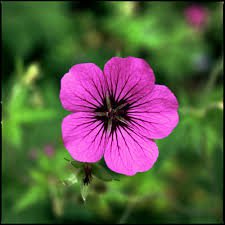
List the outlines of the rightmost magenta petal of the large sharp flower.
{"type": "Polygon", "coordinates": [[[131,105],[131,127],[143,136],[160,139],[168,136],[179,121],[178,102],[164,85],[155,85],[151,94],[131,105]]]}

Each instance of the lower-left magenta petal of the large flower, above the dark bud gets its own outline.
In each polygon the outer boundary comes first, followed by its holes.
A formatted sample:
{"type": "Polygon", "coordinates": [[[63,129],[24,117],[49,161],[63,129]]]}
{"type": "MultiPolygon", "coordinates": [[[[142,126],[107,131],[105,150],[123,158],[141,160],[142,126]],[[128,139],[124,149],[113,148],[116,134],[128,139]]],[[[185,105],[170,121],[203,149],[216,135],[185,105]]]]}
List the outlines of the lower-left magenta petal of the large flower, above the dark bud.
{"type": "Polygon", "coordinates": [[[99,161],[105,149],[103,125],[93,113],[77,112],[62,122],[62,137],[72,158],[81,162],[99,161]]]}

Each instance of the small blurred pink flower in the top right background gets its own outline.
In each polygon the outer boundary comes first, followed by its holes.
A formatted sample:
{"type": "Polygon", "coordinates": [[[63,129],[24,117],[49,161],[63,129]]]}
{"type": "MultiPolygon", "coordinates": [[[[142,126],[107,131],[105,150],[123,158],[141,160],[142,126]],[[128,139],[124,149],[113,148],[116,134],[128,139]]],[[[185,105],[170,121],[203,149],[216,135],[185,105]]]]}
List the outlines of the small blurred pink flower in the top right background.
{"type": "Polygon", "coordinates": [[[185,17],[191,26],[199,29],[205,25],[208,13],[202,6],[191,5],[185,9],[185,17]]]}

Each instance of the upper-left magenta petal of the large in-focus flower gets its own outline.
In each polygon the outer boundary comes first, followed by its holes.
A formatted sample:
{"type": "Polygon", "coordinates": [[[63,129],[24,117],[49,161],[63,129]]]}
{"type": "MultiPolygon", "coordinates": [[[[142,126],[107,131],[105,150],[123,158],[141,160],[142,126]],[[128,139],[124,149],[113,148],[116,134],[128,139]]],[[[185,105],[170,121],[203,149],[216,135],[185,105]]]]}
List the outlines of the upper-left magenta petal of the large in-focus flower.
{"type": "Polygon", "coordinates": [[[105,93],[103,73],[93,63],[73,66],[61,79],[60,100],[72,112],[93,111],[105,93]]]}

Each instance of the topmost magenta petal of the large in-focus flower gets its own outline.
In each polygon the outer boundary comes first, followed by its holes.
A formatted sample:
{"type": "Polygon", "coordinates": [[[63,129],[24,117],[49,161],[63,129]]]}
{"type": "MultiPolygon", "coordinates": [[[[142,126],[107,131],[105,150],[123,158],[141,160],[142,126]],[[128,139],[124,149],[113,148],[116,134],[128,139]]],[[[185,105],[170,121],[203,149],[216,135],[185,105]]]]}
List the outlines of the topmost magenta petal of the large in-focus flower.
{"type": "Polygon", "coordinates": [[[146,95],[154,86],[155,76],[143,59],[135,57],[113,57],[104,67],[109,94],[117,101],[131,101],[146,95]]]}

